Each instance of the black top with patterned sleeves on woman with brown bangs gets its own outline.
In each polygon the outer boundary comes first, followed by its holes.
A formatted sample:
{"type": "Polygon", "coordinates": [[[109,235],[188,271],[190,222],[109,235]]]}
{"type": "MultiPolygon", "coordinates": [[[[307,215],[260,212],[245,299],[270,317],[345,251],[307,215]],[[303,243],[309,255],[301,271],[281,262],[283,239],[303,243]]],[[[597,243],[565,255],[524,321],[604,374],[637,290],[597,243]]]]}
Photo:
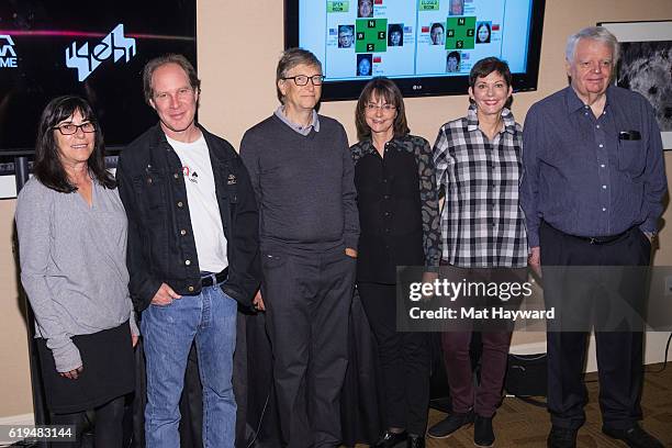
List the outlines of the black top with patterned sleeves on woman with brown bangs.
{"type": "Polygon", "coordinates": [[[358,194],[358,281],[394,283],[396,266],[438,266],[438,195],[429,143],[406,135],[350,147],[358,194]]]}

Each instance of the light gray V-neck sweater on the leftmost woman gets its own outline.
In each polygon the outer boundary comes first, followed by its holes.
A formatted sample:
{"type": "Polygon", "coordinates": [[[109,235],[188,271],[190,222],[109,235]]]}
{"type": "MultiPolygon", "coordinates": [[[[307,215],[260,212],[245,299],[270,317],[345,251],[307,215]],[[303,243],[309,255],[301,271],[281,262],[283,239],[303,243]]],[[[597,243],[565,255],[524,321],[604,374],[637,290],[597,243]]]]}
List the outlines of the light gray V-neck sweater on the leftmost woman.
{"type": "Polygon", "coordinates": [[[131,320],[126,214],[116,190],[93,181],[91,208],[77,193],[59,193],[32,178],[16,202],[21,282],[56,370],[82,365],[75,335],[114,328],[131,320]]]}

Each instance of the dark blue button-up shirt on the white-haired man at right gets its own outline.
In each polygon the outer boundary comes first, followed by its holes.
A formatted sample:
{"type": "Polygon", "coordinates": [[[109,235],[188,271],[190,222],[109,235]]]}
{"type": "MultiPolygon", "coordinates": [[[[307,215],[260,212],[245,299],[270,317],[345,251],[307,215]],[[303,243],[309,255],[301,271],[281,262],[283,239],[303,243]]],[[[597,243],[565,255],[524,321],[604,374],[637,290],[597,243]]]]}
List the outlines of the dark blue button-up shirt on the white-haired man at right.
{"type": "Polygon", "coordinates": [[[525,120],[523,163],[530,247],[539,245],[541,220],[578,236],[636,225],[657,232],[668,181],[653,109],[639,93],[611,86],[598,117],[571,87],[537,102],[525,120]]]}

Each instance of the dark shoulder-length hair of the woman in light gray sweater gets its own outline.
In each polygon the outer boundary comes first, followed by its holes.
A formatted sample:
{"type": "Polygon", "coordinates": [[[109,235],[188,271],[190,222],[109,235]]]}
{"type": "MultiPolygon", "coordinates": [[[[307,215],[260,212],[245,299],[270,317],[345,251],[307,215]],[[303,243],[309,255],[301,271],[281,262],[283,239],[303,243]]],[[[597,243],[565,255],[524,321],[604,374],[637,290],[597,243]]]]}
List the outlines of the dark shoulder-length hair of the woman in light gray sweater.
{"type": "Polygon", "coordinates": [[[93,153],[91,153],[87,161],[89,173],[93,180],[97,180],[103,187],[114,189],[116,182],[105,169],[105,145],[100,125],[89,103],[80,97],[58,97],[49,101],[46,108],[44,108],[40,124],[37,125],[33,172],[37,180],[52,190],[61,193],[71,193],[77,190],[77,187],[68,180],[68,175],[60,161],[56,139],[56,133],[59,131],[54,128],[58,123],[72,116],[77,111],[79,111],[83,120],[90,121],[96,125],[93,153]]]}

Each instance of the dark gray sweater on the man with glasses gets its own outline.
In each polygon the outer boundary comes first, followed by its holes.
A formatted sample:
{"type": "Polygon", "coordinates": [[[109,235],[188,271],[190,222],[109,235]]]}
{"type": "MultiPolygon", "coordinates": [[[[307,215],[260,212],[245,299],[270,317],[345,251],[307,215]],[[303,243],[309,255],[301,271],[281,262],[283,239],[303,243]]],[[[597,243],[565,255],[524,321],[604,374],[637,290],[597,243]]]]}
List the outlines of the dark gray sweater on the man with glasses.
{"type": "Polygon", "coordinates": [[[262,244],[357,248],[355,168],[340,123],[320,115],[320,132],[302,135],[273,114],[245,133],[240,157],[257,195],[262,244]]]}

